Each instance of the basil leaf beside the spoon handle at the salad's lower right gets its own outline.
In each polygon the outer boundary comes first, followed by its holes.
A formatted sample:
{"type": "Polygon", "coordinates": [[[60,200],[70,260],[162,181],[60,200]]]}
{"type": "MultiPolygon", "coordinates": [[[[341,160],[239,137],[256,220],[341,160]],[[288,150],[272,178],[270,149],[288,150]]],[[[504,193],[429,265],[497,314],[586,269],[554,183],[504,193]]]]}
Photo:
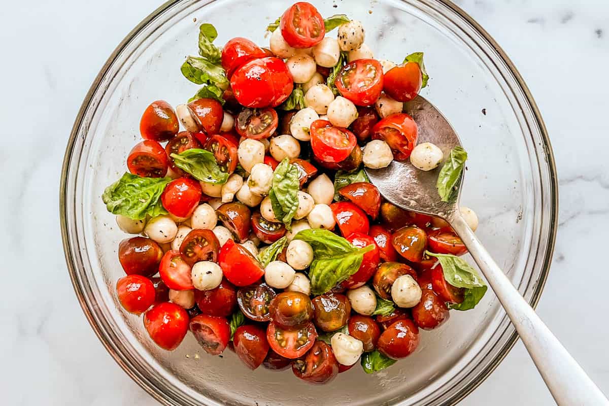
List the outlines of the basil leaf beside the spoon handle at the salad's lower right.
{"type": "Polygon", "coordinates": [[[440,261],[446,282],[465,289],[463,303],[451,304],[451,309],[470,310],[476,307],[488,289],[478,271],[462,258],[451,254],[435,254],[429,251],[426,251],[426,254],[440,261]]]}

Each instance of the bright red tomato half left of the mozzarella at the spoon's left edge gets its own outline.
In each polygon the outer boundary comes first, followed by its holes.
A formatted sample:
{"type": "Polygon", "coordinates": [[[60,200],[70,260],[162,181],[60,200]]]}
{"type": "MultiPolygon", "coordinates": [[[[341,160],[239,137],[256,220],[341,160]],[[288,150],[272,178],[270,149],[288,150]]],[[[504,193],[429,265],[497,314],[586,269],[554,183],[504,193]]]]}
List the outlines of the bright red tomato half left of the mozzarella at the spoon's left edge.
{"type": "Polygon", "coordinates": [[[356,147],[357,139],[347,128],[333,127],[326,120],[311,124],[311,149],[315,158],[328,163],[339,163],[356,147]]]}

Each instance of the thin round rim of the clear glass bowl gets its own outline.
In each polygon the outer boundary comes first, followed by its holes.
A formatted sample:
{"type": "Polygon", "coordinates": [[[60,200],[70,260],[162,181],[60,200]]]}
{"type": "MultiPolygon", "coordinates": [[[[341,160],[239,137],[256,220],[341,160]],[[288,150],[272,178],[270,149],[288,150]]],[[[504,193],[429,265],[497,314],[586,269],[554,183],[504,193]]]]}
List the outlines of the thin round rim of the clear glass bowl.
{"type": "MultiPolygon", "coordinates": [[[[146,393],[148,393],[150,396],[152,396],[153,399],[155,399],[158,402],[160,402],[161,404],[167,405],[167,406],[172,406],[172,404],[169,401],[167,401],[166,399],[164,399],[157,391],[155,391],[154,388],[152,387],[152,385],[150,385],[150,382],[147,382],[146,380],[141,379],[141,377],[139,377],[136,373],[134,373],[134,371],[132,371],[130,366],[121,357],[121,354],[119,354],[119,352],[114,349],[114,346],[107,340],[107,337],[105,337],[104,332],[102,332],[102,329],[100,329],[99,326],[97,326],[96,321],[94,320],[94,317],[93,317],[93,313],[91,312],[91,310],[88,308],[88,306],[86,304],[86,301],[84,299],[85,292],[82,289],[82,285],[80,285],[80,283],[79,283],[79,276],[78,276],[78,272],[77,272],[78,266],[76,265],[76,263],[74,262],[74,259],[72,258],[71,254],[70,254],[72,252],[72,249],[71,249],[72,247],[69,242],[68,215],[67,215],[67,210],[66,210],[66,208],[67,208],[66,192],[68,189],[69,161],[71,159],[72,152],[73,152],[74,146],[76,144],[76,139],[78,137],[79,128],[82,125],[83,117],[85,116],[85,112],[86,112],[88,106],[90,105],[91,100],[93,100],[93,96],[96,93],[97,88],[99,88],[99,85],[102,82],[102,79],[107,74],[108,70],[110,69],[110,66],[113,65],[114,61],[119,56],[119,54],[121,54],[121,52],[127,46],[127,44],[130,43],[130,41],[132,41],[133,38],[136,37],[136,35],[139,33],[139,31],[141,29],[143,29],[145,26],[147,26],[149,23],[151,23],[155,18],[157,18],[166,9],[169,9],[170,7],[172,7],[175,4],[180,3],[181,1],[183,1],[183,0],[166,1],[163,4],[161,4],[156,10],[154,10],[152,13],[150,13],[148,16],[146,16],[146,18],[144,18],[138,25],[136,25],[125,36],[125,38],[121,41],[121,43],[118,44],[118,46],[110,54],[110,57],[108,57],[108,59],[105,61],[104,65],[100,69],[99,73],[96,75],[93,83],[91,84],[88,92],[86,93],[85,99],[83,100],[83,102],[80,106],[79,112],[76,116],[74,125],[72,126],[72,130],[70,132],[68,144],[66,146],[66,152],[65,152],[65,155],[63,158],[63,163],[62,163],[62,172],[61,172],[61,177],[60,177],[60,194],[59,194],[59,205],[60,205],[59,213],[60,213],[62,245],[63,245],[64,256],[66,259],[66,265],[68,266],[69,276],[72,281],[72,287],[74,288],[74,292],[76,293],[77,299],[80,303],[80,307],[82,308],[83,313],[85,313],[86,319],[88,320],[91,328],[93,328],[93,331],[97,335],[97,338],[99,338],[99,341],[101,341],[101,343],[104,346],[104,348],[106,349],[106,351],[108,351],[108,354],[110,354],[111,357],[114,359],[114,361],[116,361],[116,363],[118,363],[118,365],[121,366],[123,371],[125,371],[125,373],[133,381],[135,381],[139,385],[139,387],[141,387],[144,391],[146,391],[146,393]]],[[[495,51],[499,54],[499,57],[501,57],[501,60],[504,61],[505,65],[507,66],[509,71],[512,73],[513,77],[516,79],[518,86],[523,91],[524,97],[526,98],[527,102],[529,103],[533,116],[535,117],[535,121],[537,122],[537,125],[540,129],[541,140],[543,141],[543,147],[544,147],[544,152],[547,157],[547,167],[548,167],[548,172],[549,172],[549,185],[548,186],[550,189],[549,195],[551,196],[551,199],[550,199],[551,212],[550,212],[550,216],[549,216],[550,217],[549,239],[548,239],[547,247],[545,250],[546,252],[544,255],[544,264],[541,267],[540,278],[537,281],[535,290],[532,292],[531,301],[529,302],[529,304],[533,307],[533,309],[535,309],[535,307],[537,307],[537,304],[541,298],[541,293],[543,293],[544,286],[545,286],[547,278],[549,276],[549,271],[550,271],[550,267],[551,267],[551,263],[552,263],[552,257],[553,257],[553,253],[554,253],[555,242],[556,242],[556,235],[557,235],[557,230],[558,230],[558,221],[557,221],[557,219],[558,219],[558,177],[557,177],[556,163],[555,163],[555,159],[554,159],[554,152],[552,150],[552,145],[551,145],[548,133],[547,133],[547,128],[546,128],[546,125],[544,124],[543,118],[541,117],[541,113],[537,106],[537,103],[535,102],[535,99],[533,99],[533,96],[530,93],[529,87],[524,82],[523,77],[518,72],[518,69],[516,69],[516,66],[514,65],[512,60],[508,57],[508,55],[505,53],[505,51],[502,49],[502,47],[499,46],[499,44],[495,41],[495,39],[493,37],[491,37],[491,35],[479,23],[477,23],[474,18],[472,18],[468,13],[466,13],[458,5],[454,4],[454,2],[452,2],[451,0],[434,0],[434,1],[437,1],[438,3],[442,4],[443,6],[447,7],[452,12],[456,13],[458,16],[463,18],[466,21],[466,23],[470,24],[484,38],[484,40],[488,41],[488,43],[493,47],[493,49],[495,49],[495,51]]],[[[504,347],[498,352],[498,355],[496,355],[495,359],[491,360],[491,362],[487,366],[487,368],[485,368],[484,370],[481,371],[481,373],[479,373],[476,380],[473,380],[470,383],[470,385],[467,385],[466,387],[464,387],[462,390],[460,390],[458,393],[456,393],[452,397],[451,404],[455,405],[455,404],[459,403],[466,396],[468,396],[468,394],[470,394],[479,385],[481,385],[481,383],[484,382],[484,380],[487,379],[487,377],[490,376],[490,374],[493,373],[493,371],[495,371],[497,366],[499,366],[499,364],[502,362],[502,360],[505,359],[507,354],[509,354],[509,352],[511,351],[513,346],[516,344],[516,341],[518,340],[518,338],[519,338],[518,333],[516,331],[514,331],[512,333],[512,335],[509,337],[509,339],[507,340],[507,342],[505,343],[504,347]]]]}

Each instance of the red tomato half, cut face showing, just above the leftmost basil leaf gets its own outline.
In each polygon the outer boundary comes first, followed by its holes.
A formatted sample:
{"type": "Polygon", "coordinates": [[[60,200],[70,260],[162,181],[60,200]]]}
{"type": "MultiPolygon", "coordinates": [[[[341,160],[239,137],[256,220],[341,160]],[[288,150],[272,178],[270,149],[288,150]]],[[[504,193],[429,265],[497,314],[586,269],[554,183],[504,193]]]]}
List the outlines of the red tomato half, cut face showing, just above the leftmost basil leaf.
{"type": "Polygon", "coordinates": [[[165,150],[152,139],[144,139],[136,144],[127,158],[129,172],[144,178],[164,177],[168,164],[165,150]]]}

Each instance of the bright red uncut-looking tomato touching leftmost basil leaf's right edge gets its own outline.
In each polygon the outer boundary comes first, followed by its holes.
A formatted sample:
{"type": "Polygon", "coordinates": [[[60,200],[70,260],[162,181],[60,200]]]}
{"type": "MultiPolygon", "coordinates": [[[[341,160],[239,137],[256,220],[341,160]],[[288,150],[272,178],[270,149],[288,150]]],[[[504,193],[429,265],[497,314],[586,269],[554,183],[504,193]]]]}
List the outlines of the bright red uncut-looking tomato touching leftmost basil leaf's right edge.
{"type": "Polygon", "coordinates": [[[191,178],[178,178],[165,186],[161,203],[176,217],[190,217],[201,200],[201,184],[191,178]]]}

